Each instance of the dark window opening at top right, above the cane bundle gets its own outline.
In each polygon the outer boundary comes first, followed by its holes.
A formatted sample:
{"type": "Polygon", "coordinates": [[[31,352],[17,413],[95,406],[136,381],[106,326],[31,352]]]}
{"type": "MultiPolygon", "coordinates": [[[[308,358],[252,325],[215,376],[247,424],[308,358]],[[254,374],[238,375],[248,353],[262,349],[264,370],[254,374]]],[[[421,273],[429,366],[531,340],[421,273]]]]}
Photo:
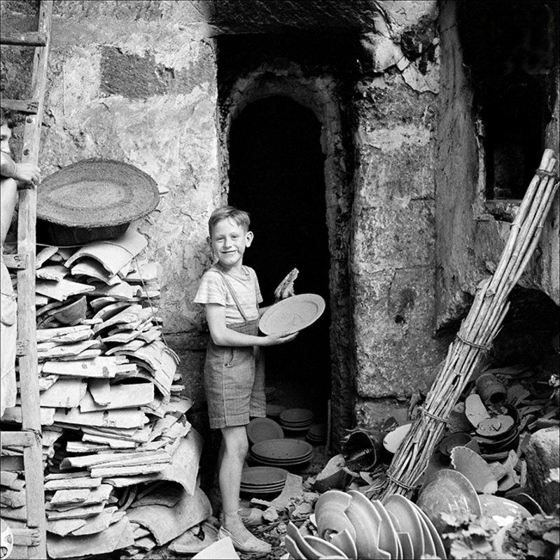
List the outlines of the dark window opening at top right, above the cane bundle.
{"type": "Polygon", "coordinates": [[[458,3],[484,130],[487,200],[521,199],[542,157],[556,95],[558,21],[555,0],[458,3]]]}

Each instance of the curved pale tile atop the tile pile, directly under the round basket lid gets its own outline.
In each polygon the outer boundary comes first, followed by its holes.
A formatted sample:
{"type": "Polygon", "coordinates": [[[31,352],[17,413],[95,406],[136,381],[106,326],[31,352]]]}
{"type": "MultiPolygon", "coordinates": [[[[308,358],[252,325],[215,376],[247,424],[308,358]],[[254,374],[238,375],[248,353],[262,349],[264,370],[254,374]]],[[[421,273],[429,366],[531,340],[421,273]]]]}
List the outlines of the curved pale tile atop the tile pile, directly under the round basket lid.
{"type": "Polygon", "coordinates": [[[66,260],[64,265],[70,267],[76,260],[90,257],[97,260],[106,272],[114,276],[146,246],[148,246],[146,237],[134,228],[128,228],[125,235],[118,239],[96,241],[83,246],[66,260]]]}

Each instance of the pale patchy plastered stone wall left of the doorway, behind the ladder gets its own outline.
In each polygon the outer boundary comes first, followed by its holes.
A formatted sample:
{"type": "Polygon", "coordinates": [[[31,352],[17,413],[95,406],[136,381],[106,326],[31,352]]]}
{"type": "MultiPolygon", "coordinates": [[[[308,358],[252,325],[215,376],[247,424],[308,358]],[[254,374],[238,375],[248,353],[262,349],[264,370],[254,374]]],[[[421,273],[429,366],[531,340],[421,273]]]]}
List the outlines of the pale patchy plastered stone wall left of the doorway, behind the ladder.
{"type": "MultiPolygon", "coordinates": [[[[56,1],[39,158],[44,176],[85,158],[121,160],[169,189],[137,226],[147,258],[161,265],[159,314],[197,400],[205,335],[192,300],[219,184],[216,49],[201,6],[56,1]]],[[[35,10],[35,2],[3,1],[2,29],[34,29],[35,10]]],[[[4,97],[25,97],[28,62],[25,51],[2,47],[4,97]]]]}

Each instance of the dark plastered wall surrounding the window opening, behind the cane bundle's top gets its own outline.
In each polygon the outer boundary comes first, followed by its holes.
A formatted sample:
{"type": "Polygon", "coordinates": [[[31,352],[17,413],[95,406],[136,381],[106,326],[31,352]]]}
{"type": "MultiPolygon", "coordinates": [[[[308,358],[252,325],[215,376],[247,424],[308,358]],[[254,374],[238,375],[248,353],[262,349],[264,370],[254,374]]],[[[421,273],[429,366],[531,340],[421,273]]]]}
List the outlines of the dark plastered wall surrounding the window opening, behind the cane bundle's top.
{"type": "MultiPolygon", "coordinates": [[[[440,122],[437,132],[437,326],[468,311],[476,286],[491,274],[510,233],[510,223],[481,216],[479,151],[473,88],[463,64],[456,2],[442,4],[440,122]]],[[[558,88],[556,80],[556,90],[558,88]]],[[[558,95],[546,144],[558,153],[558,95]]],[[[535,167],[538,162],[535,162],[535,167]]],[[[519,284],[560,304],[559,195],[556,193],[540,243],[519,284]]]]}

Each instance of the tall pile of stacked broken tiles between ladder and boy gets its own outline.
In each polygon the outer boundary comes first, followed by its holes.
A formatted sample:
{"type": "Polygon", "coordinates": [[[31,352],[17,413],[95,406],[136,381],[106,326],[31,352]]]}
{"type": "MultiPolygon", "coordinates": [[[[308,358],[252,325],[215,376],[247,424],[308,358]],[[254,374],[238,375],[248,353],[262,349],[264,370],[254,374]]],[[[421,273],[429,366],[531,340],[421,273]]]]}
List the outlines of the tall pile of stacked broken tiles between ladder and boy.
{"type": "MultiPolygon", "coordinates": [[[[202,438],[186,420],[184,387],[174,384],[179,360],[162,339],[158,266],[141,258],[146,244],[129,229],[115,241],[49,246],[37,254],[52,558],[116,549],[142,557],[210,514],[197,487],[202,438]]],[[[19,398],[3,421],[21,422],[19,398]]],[[[2,495],[2,517],[22,523],[25,500],[8,504],[4,488],[2,495]]]]}

